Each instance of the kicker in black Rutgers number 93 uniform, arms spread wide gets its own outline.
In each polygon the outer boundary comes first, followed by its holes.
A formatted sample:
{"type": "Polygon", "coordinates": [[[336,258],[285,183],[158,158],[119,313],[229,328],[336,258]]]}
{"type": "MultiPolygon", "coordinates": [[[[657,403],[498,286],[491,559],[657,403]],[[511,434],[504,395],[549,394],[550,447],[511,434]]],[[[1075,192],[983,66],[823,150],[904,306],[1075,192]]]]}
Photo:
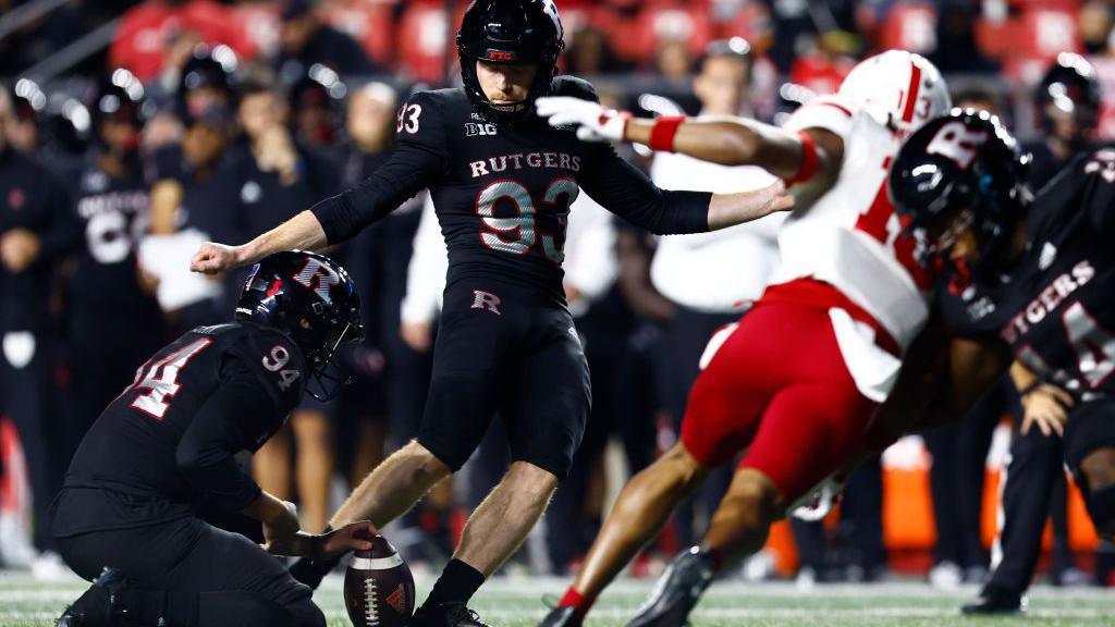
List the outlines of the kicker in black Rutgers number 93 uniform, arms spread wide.
{"type": "MultiPolygon", "coordinates": [[[[569,208],[583,187],[656,233],[702,232],[788,209],[780,182],[737,194],[665,192],[611,146],[578,141],[534,113],[545,95],[594,99],[555,77],[563,47],[550,0],[476,0],[457,49],[465,86],[423,91],[398,114],[398,149],[367,181],[239,247],[206,244],[192,268],[217,272],[290,248],[355,235],[428,187],[449,253],[429,401],[416,441],[380,464],[333,527],[398,518],[456,472],[505,417],[513,462],[465,527],[413,625],[482,625],[466,602],[545,510],[584,431],[589,373],[562,288],[569,208]]],[[[799,160],[788,151],[787,160],[799,160]]],[[[318,580],[329,565],[321,565],[318,580]]]]}

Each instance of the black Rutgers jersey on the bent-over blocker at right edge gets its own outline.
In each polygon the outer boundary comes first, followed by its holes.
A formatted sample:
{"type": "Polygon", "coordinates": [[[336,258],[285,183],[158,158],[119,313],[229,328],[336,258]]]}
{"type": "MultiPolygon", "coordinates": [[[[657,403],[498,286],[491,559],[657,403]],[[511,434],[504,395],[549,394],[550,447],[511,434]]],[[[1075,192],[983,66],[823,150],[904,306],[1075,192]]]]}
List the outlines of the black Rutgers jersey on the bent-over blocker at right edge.
{"type": "Polygon", "coordinates": [[[1046,380],[1084,399],[1115,394],[1115,149],[1073,161],[1038,193],[1029,244],[995,286],[940,290],[954,332],[998,335],[1046,380]]]}

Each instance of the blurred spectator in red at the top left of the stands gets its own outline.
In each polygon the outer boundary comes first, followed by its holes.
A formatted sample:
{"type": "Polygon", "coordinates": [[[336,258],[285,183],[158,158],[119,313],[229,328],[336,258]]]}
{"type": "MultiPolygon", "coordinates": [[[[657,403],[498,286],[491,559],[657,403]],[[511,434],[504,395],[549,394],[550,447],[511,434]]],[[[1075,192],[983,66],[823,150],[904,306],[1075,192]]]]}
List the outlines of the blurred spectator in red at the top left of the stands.
{"type": "Polygon", "coordinates": [[[167,55],[172,61],[181,59],[181,50],[193,48],[195,38],[213,46],[225,44],[244,59],[256,52],[229,9],[215,0],[149,0],[120,18],[108,61],[151,80],[163,70],[167,55]],[[181,41],[185,44],[175,45],[181,41]]]}

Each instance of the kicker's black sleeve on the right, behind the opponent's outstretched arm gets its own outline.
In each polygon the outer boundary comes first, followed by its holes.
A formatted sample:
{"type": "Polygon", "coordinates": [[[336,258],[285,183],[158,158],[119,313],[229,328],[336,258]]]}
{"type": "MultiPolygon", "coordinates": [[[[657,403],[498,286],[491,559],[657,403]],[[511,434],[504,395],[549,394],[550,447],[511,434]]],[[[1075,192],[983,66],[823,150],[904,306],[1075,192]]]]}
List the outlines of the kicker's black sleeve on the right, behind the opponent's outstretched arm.
{"type": "Polygon", "coordinates": [[[581,167],[576,182],[592,200],[658,235],[708,231],[708,192],[669,192],[624,161],[612,146],[581,167]]]}

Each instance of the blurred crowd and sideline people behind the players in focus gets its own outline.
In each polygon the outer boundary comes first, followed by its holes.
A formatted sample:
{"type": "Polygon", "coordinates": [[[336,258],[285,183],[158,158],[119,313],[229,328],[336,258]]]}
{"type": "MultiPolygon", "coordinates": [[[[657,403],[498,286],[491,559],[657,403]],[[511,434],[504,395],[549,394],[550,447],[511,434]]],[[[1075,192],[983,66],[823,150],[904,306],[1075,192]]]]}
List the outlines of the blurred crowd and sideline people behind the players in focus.
{"type": "MultiPolygon", "coordinates": [[[[453,35],[464,8],[0,0],[0,565],[61,571],[43,530],[85,430],[154,349],[196,325],[231,320],[243,274],[192,276],[190,254],[206,240],[246,241],[372,172],[392,149],[397,105],[413,89],[455,84],[453,35]]],[[[1103,0],[559,8],[563,70],[592,79],[619,108],[778,123],[834,91],[856,59],[904,48],[940,67],[956,103],[991,109],[1027,138],[1046,160],[1037,176],[1115,136],[1115,8],[1103,0]],[[1066,52],[1095,70],[1097,90],[1074,100],[1087,110],[1065,110],[1039,89],[1066,52]]],[[[671,189],[735,190],[768,176],[641,149],[624,156],[671,189]]],[[[565,247],[566,293],[592,370],[593,415],[572,476],[511,568],[575,569],[612,486],[673,443],[705,344],[762,293],[777,263],[778,220],[657,241],[582,196],[565,247]]],[[[424,195],[329,254],[365,302],[368,339],[345,357],[355,383],[329,404],[307,396],[250,462],[265,490],[299,503],[311,530],[385,451],[416,434],[445,271],[424,195]]],[[[942,586],[981,580],[983,521],[996,507],[985,499],[988,450],[998,446],[1001,460],[1006,445],[992,434],[1010,431],[1000,425],[1010,424],[1009,406],[985,411],[972,419],[978,427],[924,440],[928,511],[888,521],[884,493],[895,491],[875,460],[853,478],[840,514],[794,523],[795,540],[776,538],[744,573],[796,572],[803,585],[874,580],[890,569],[928,571],[942,586]],[[891,528],[915,524],[931,528],[924,546],[895,540],[901,529],[891,528]],[[900,559],[910,548],[924,554],[900,559]]],[[[918,442],[899,446],[921,459],[918,442]]],[[[448,558],[467,511],[506,464],[501,446],[486,442],[392,530],[413,562],[448,558]]],[[[637,575],[689,546],[727,478],[680,510],[637,575]]],[[[1109,556],[1094,537],[1070,541],[1066,494],[1054,498],[1053,580],[1103,583],[1109,556]]]]}

